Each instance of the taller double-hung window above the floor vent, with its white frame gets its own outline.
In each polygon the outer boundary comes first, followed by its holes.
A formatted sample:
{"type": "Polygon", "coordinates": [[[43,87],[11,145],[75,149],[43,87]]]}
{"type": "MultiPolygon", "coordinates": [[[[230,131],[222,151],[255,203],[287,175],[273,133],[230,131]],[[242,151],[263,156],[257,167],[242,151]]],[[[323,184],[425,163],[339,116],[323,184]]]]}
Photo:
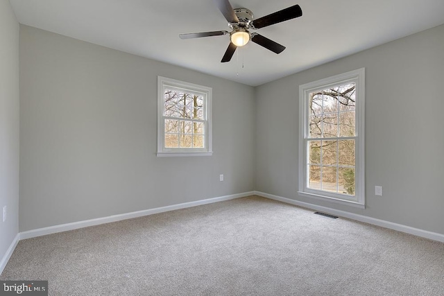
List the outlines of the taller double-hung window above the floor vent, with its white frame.
{"type": "Polygon", "coordinates": [[[364,208],[364,68],[299,91],[299,193],[364,208]]]}

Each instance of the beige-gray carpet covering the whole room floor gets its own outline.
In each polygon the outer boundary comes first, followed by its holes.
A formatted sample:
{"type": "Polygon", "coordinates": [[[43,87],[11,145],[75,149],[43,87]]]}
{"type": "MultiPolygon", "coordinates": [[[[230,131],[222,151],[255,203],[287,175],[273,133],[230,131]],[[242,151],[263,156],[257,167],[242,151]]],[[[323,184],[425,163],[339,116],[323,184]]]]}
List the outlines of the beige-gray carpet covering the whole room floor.
{"type": "Polygon", "coordinates": [[[259,197],[20,241],[49,295],[444,295],[444,243],[259,197]]]}

